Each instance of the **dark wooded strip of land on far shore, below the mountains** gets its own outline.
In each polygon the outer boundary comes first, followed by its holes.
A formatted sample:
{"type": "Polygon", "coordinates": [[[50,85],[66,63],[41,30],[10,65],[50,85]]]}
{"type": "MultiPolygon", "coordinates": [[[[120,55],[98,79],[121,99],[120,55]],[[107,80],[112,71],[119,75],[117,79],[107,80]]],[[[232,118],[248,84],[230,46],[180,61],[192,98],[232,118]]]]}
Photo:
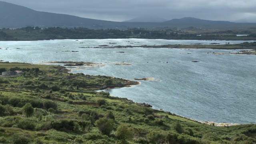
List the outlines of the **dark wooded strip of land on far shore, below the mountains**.
{"type": "Polygon", "coordinates": [[[146,38],[168,40],[255,40],[256,28],[232,30],[209,30],[188,27],[183,29],[88,29],[88,28],[26,28],[0,30],[0,40],[50,40],[50,39],[107,39],[107,38],[146,38]],[[248,36],[236,36],[247,34],[248,36]]]}

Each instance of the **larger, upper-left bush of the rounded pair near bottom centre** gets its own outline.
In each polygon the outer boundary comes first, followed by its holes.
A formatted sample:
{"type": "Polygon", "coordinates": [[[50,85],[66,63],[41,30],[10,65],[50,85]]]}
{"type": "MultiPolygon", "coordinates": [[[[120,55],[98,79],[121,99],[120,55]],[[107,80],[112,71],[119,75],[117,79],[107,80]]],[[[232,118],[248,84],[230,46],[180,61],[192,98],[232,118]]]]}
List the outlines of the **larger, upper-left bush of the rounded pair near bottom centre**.
{"type": "Polygon", "coordinates": [[[114,120],[108,118],[100,118],[95,122],[96,127],[104,135],[109,136],[110,132],[114,129],[114,120]]]}

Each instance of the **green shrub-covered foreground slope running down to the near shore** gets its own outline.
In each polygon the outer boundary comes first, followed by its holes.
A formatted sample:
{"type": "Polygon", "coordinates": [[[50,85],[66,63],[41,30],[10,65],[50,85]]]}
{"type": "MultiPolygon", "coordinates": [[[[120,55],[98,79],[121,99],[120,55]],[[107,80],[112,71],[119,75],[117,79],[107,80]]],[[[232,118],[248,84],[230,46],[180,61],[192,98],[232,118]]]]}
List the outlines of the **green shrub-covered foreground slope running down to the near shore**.
{"type": "Polygon", "coordinates": [[[66,72],[61,66],[0,63],[0,143],[254,144],[256,125],[210,126],[96,92],[135,84],[66,72]]]}

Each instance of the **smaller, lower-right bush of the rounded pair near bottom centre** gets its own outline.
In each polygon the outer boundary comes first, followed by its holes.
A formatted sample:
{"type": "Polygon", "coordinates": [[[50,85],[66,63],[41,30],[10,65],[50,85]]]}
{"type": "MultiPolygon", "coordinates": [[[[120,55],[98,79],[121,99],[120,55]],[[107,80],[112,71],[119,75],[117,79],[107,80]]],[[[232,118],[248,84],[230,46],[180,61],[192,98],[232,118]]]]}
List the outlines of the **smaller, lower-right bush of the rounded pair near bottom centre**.
{"type": "Polygon", "coordinates": [[[116,136],[122,140],[133,138],[132,131],[130,130],[130,128],[128,128],[128,126],[124,124],[118,126],[118,128],[116,129],[116,136]]]}

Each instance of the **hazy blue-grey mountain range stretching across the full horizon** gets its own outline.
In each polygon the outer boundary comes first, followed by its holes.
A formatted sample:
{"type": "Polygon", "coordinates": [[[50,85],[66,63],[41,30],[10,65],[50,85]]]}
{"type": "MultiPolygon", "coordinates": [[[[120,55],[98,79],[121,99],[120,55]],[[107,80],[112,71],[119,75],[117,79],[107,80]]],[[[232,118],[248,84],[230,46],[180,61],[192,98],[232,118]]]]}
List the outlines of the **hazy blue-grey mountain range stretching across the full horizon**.
{"type": "Polygon", "coordinates": [[[22,28],[26,26],[39,27],[83,27],[91,29],[104,28],[240,28],[255,27],[255,23],[235,23],[227,21],[201,20],[198,18],[180,18],[164,20],[158,17],[139,17],[125,22],[113,22],[81,18],[67,14],[39,12],[0,1],[0,28],[22,28]]]}

